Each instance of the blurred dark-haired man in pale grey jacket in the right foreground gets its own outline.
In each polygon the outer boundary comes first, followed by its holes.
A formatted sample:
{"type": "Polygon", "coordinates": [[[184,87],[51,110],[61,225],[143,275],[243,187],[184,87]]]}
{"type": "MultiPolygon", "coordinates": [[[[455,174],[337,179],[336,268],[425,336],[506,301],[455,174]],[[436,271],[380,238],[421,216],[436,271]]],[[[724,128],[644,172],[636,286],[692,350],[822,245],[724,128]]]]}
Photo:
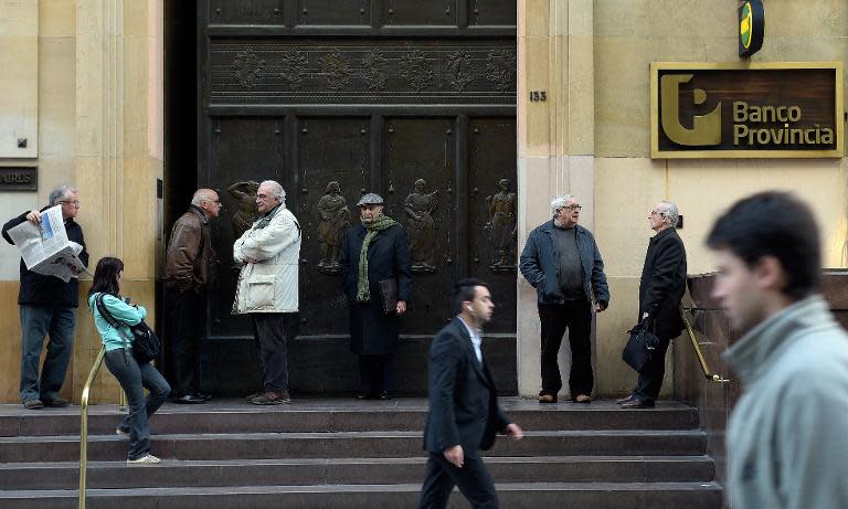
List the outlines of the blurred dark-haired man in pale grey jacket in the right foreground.
{"type": "Polygon", "coordinates": [[[724,354],[744,384],[728,424],[733,509],[848,507],[848,333],[817,293],[822,247],[795,197],[743,199],[716,222],[712,295],[746,333],[724,354]]]}

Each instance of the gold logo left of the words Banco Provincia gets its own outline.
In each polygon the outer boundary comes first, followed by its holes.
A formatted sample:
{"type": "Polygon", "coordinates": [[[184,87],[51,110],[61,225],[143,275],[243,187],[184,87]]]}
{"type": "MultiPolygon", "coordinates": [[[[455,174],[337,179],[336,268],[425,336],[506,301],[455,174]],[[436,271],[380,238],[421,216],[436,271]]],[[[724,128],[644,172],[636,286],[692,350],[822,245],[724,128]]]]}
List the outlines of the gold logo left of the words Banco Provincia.
{"type": "MultiPolygon", "coordinates": [[[[671,141],[688,147],[703,147],[721,142],[721,103],[707,115],[695,115],[692,128],[680,124],[680,85],[689,83],[693,74],[666,74],[659,79],[660,100],[662,102],[662,130],[671,141]]],[[[692,91],[692,104],[701,105],[707,100],[707,92],[692,91]]]]}

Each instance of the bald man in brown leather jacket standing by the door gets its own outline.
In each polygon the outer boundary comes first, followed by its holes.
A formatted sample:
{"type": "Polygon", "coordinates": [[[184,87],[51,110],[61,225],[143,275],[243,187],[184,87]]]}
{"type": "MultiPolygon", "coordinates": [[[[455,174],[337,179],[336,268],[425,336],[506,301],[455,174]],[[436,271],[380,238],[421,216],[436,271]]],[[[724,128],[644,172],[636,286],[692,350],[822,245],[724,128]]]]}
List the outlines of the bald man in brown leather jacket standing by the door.
{"type": "Polygon", "coordinates": [[[206,324],[206,293],[215,279],[218,258],[212,248],[210,220],[221,200],[211,189],[199,189],[189,211],[173,223],[165,267],[165,311],[171,347],[170,382],[174,403],[205,403],[200,392],[198,350],[206,324]]]}

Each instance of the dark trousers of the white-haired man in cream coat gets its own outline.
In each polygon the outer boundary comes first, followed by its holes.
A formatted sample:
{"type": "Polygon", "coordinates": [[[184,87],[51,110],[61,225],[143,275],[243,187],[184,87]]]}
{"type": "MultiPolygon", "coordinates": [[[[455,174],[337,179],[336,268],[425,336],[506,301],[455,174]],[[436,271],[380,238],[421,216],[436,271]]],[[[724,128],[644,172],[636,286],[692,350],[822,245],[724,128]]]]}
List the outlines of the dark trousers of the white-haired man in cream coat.
{"type": "Polygon", "coordinates": [[[286,342],[294,339],[297,322],[295,312],[252,312],[253,326],[259,344],[263,390],[282,392],[288,390],[288,362],[286,342]],[[294,324],[293,324],[294,320],[294,324]]]}

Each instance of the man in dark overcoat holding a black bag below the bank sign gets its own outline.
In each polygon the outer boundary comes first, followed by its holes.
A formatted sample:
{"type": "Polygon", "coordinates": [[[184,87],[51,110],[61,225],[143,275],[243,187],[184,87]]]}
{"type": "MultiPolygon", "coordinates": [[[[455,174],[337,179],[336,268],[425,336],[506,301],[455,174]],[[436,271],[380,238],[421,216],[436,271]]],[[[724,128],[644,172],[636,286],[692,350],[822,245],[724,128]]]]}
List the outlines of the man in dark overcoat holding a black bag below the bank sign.
{"type": "Polygon", "coordinates": [[[666,374],[666,351],[677,338],[683,324],[680,301],[686,294],[686,248],[677,234],[677,205],[659,202],[650,211],[650,229],[657,232],[648,243],[645,266],[639,282],[639,317],[648,320],[649,330],[659,338],[659,346],[639,372],[633,393],[618,403],[628,409],[651,407],[659,396],[666,374]]]}

